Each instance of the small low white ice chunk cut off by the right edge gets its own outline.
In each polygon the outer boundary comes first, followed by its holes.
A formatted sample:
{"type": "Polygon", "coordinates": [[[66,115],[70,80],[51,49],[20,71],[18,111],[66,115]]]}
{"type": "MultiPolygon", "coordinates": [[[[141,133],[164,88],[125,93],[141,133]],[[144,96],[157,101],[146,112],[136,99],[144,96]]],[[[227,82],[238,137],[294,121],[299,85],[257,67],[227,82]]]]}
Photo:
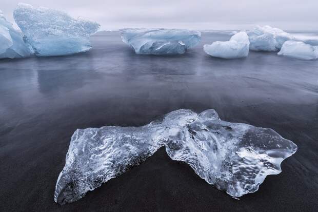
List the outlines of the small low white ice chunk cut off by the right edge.
{"type": "Polygon", "coordinates": [[[318,46],[305,44],[301,41],[286,41],[277,54],[300,60],[316,60],[318,59],[318,46]]]}

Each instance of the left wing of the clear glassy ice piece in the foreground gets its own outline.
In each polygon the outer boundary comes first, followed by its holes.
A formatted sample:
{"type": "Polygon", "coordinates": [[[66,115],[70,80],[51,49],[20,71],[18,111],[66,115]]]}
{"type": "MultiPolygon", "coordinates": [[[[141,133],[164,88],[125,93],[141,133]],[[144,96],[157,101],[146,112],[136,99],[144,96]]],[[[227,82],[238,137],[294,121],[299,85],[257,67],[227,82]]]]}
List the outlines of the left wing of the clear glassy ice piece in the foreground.
{"type": "Polygon", "coordinates": [[[169,128],[185,126],[195,118],[196,113],[190,110],[177,110],[142,127],[77,129],[57,179],[55,202],[76,201],[88,190],[140,164],[169,139],[169,128]]]}

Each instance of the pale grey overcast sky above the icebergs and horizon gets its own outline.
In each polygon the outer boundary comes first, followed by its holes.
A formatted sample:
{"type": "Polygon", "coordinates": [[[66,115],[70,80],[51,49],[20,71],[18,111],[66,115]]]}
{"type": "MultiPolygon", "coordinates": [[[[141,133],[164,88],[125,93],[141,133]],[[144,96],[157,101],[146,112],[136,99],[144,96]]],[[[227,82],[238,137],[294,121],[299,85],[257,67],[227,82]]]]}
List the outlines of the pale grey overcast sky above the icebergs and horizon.
{"type": "MultiPolygon", "coordinates": [[[[0,10],[13,22],[20,1],[1,0],[0,10]]],[[[318,0],[25,0],[35,7],[87,17],[103,30],[125,27],[237,30],[255,24],[285,30],[318,30],[318,0]]]]}

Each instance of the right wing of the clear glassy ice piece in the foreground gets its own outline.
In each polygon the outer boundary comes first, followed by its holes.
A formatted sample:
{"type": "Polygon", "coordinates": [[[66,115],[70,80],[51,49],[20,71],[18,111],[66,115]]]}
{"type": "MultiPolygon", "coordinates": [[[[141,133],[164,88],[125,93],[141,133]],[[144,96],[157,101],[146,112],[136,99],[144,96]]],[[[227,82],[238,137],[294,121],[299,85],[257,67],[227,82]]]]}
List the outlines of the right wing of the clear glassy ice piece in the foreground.
{"type": "Polygon", "coordinates": [[[232,197],[255,192],[267,175],[279,174],[281,162],[297,150],[272,129],[222,121],[213,109],[175,129],[165,144],[170,158],[188,163],[232,197]]]}

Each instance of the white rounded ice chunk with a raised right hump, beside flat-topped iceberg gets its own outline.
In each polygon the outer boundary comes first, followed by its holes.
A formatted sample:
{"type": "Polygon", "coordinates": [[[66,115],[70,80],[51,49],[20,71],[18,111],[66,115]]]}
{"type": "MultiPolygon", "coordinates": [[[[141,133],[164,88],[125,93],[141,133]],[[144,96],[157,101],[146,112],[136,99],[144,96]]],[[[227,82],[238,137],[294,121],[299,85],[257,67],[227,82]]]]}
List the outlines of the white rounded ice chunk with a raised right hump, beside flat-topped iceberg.
{"type": "Polygon", "coordinates": [[[214,57],[223,59],[235,59],[247,57],[249,52],[249,38],[246,32],[238,32],[234,34],[230,41],[216,41],[211,45],[204,45],[204,51],[214,57]]]}

